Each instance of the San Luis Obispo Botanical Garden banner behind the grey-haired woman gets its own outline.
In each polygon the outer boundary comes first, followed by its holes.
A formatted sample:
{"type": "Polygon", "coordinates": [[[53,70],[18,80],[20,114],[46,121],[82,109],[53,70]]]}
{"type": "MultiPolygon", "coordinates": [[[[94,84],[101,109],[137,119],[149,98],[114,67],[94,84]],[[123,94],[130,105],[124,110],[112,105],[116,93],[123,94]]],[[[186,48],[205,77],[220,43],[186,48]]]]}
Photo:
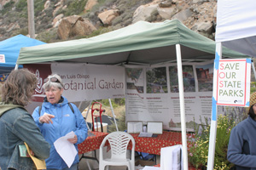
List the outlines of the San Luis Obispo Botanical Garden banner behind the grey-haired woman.
{"type": "Polygon", "coordinates": [[[121,66],[55,63],[24,67],[35,72],[38,77],[34,95],[36,101],[43,101],[44,79],[53,73],[61,77],[63,95],[70,102],[125,97],[125,68],[121,66]]]}

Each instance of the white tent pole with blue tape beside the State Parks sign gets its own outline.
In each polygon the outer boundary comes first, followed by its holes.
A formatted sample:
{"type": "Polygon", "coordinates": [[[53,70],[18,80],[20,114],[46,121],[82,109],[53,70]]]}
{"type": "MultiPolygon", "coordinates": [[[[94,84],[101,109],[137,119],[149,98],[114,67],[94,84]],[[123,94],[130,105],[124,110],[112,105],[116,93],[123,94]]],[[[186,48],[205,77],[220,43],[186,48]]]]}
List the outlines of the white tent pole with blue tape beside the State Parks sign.
{"type": "Polygon", "coordinates": [[[219,59],[222,59],[222,46],[221,42],[216,43],[216,53],[214,60],[214,71],[213,71],[213,87],[212,87],[212,119],[210,127],[210,138],[209,138],[209,148],[208,148],[208,159],[207,159],[207,170],[212,170],[214,166],[214,156],[215,156],[215,143],[216,143],[216,133],[218,125],[218,110],[217,110],[217,71],[219,59]]]}

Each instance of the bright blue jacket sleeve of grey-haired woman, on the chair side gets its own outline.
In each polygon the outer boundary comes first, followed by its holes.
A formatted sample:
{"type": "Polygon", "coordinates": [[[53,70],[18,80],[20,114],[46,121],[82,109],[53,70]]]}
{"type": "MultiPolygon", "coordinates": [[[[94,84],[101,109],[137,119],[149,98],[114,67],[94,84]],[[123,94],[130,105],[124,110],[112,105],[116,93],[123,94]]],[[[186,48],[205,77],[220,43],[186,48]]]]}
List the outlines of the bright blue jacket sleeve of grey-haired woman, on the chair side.
{"type": "Polygon", "coordinates": [[[87,125],[85,123],[84,116],[79,111],[79,108],[74,104],[71,104],[71,105],[73,106],[74,114],[75,114],[75,117],[76,117],[76,127],[77,127],[77,129],[74,133],[78,137],[77,144],[80,144],[80,143],[84,142],[84,140],[87,138],[88,128],[87,128],[87,125]]]}

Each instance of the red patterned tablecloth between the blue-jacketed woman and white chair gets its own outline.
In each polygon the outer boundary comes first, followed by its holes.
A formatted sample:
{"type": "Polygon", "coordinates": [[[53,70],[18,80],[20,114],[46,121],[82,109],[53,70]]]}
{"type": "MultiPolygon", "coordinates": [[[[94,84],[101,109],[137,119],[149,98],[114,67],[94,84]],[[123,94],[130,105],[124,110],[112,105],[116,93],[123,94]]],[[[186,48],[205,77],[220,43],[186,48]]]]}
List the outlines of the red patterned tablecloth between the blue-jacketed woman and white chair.
{"type": "Polygon", "coordinates": [[[108,133],[92,132],[95,136],[90,136],[79,144],[79,154],[83,154],[92,150],[98,150],[102,144],[102,140],[108,135],[108,133]]]}

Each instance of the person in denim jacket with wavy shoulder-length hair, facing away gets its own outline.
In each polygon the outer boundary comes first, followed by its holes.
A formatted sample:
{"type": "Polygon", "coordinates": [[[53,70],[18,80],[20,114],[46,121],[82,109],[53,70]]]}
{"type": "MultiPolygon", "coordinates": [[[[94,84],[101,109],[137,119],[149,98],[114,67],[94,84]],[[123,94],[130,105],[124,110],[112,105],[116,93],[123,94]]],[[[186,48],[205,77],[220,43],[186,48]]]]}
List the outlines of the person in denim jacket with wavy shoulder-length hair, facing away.
{"type": "Polygon", "coordinates": [[[32,155],[49,157],[49,144],[40,133],[26,106],[35,92],[37,77],[25,69],[11,71],[4,82],[0,103],[0,167],[1,169],[32,169],[30,157],[20,156],[20,147],[28,144],[32,155]]]}

